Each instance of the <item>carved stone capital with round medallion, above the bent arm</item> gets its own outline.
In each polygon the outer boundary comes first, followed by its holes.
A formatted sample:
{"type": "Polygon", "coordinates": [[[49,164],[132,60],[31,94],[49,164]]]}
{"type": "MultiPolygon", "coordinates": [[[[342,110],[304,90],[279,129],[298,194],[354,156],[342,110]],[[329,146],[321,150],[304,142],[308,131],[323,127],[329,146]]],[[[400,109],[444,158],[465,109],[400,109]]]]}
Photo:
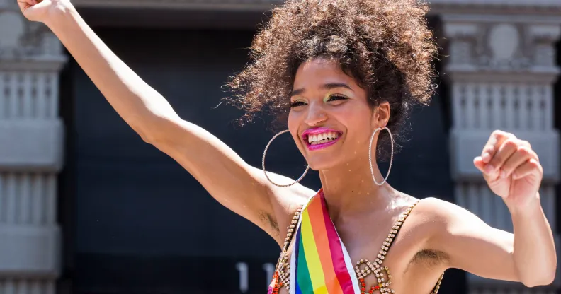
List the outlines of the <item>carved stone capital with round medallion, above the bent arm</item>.
{"type": "Polygon", "coordinates": [[[449,65],[478,71],[555,68],[558,25],[532,23],[445,23],[449,65]]]}

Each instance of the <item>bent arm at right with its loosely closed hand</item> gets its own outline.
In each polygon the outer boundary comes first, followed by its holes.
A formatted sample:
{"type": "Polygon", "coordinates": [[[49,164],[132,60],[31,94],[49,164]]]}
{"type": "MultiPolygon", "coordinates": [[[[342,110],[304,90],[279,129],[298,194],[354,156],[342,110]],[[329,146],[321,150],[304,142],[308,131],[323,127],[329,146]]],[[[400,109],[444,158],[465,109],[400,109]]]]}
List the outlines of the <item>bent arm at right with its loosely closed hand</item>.
{"type": "Polygon", "coordinates": [[[538,155],[528,142],[495,131],[474,163],[509,208],[514,234],[491,228],[463,208],[431,199],[439,225],[429,247],[445,252],[450,267],[478,276],[528,287],[552,283],[557,254],[540,204],[543,170],[538,155]]]}

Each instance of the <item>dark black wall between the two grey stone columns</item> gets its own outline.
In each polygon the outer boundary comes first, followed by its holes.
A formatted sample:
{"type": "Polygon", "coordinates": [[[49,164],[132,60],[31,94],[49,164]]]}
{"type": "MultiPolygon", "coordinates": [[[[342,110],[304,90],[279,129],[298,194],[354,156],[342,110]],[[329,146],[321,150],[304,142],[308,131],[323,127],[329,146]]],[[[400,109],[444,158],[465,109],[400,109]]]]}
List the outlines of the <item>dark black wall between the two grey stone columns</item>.
{"type": "MultiPolygon", "coordinates": [[[[97,31],[181,117],[260,166],[273,136],[266,119],[239,128],[233,122],[241,112],[216,107],[227,95],[221,90],[227,77],[246,63],[252,31],[97,31]]],[[[61,285],[74,293],[239,293],[236,264],[246,262],[250,292],[265,293],[262,266],[276,263],[275,242],[143,142],[72,59],[61,85],[68,133],[60,180],[61,285]]],[[[409,141],[395,155],[389,182],[419,198],[453,201],[445,92],[430,107],[415,110],[409,141]]],[[[299,176],[305,162],[290,138],[279,138],[275,146],[268,167],[299,176]]],[[[381,168],[384,172],[387,164],[381,168]]],[[[310,172],[302,183],[318,189],[317,173],[310,172]]],[[[463,293],[463,285],[463,274],[452,272],[441,293],[463,293]]]]}

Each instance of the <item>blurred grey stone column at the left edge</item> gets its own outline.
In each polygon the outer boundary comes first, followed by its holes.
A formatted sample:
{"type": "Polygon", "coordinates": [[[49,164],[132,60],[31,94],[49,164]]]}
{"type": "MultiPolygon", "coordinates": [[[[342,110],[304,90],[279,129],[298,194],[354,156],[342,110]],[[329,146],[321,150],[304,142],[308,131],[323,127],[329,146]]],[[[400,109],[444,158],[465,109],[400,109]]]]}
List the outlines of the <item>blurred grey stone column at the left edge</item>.
{"type": "Polygon", "coordinates": [[[52,294],[60,271],[57,173],[66,57],[16,1],[0,1],[0,293],[52,294]]]}

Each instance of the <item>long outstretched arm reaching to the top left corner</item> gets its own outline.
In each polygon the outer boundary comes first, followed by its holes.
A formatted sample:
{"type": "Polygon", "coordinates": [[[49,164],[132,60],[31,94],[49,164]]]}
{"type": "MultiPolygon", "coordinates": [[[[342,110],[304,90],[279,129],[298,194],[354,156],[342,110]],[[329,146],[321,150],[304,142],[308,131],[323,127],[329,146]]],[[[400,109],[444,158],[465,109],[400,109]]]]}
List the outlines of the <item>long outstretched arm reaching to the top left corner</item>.
{"type": "MultiPolygon", "coordinates": [[[[280,240],[277,223],[289,223],[291,196],[311,192],[300,185],[280,191],[259,169],[208,131],[181,119],[169,102],[137,76],[94,33],[67,0],[18,0],[26,18],[47,25],[91,81],[144,141],[174,158],[222,205],[280,240]],[[280,192],[284,194],[280,197],[280,192]],[[285,219],[286,218],[286,219],[285,219]]],[[[270,175],[279,182],[278,175],[270,175]]],[[[281,228],[283,225],[280,226],[281,228]]]]}

